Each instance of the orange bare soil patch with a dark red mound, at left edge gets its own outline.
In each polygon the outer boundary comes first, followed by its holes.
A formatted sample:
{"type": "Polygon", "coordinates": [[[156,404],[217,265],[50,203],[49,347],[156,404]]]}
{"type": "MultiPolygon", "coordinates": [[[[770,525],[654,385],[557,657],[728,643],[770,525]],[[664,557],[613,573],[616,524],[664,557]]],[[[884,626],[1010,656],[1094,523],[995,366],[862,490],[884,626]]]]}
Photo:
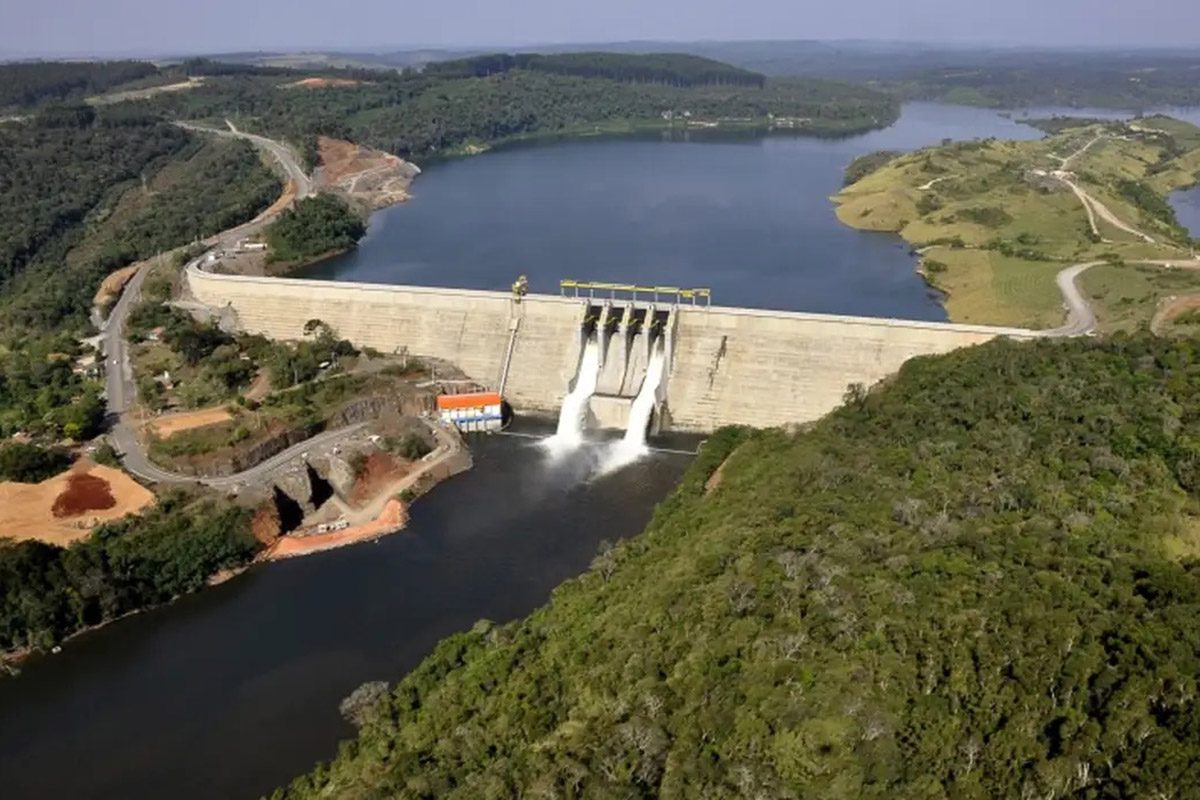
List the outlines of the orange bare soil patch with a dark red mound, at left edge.
{"type": "Polygon", "coordinates": [[[0,482],[0,531],[65,546],[151,503],[154,494],[119,469],[80,461],[41,483],[0,482]]]}

